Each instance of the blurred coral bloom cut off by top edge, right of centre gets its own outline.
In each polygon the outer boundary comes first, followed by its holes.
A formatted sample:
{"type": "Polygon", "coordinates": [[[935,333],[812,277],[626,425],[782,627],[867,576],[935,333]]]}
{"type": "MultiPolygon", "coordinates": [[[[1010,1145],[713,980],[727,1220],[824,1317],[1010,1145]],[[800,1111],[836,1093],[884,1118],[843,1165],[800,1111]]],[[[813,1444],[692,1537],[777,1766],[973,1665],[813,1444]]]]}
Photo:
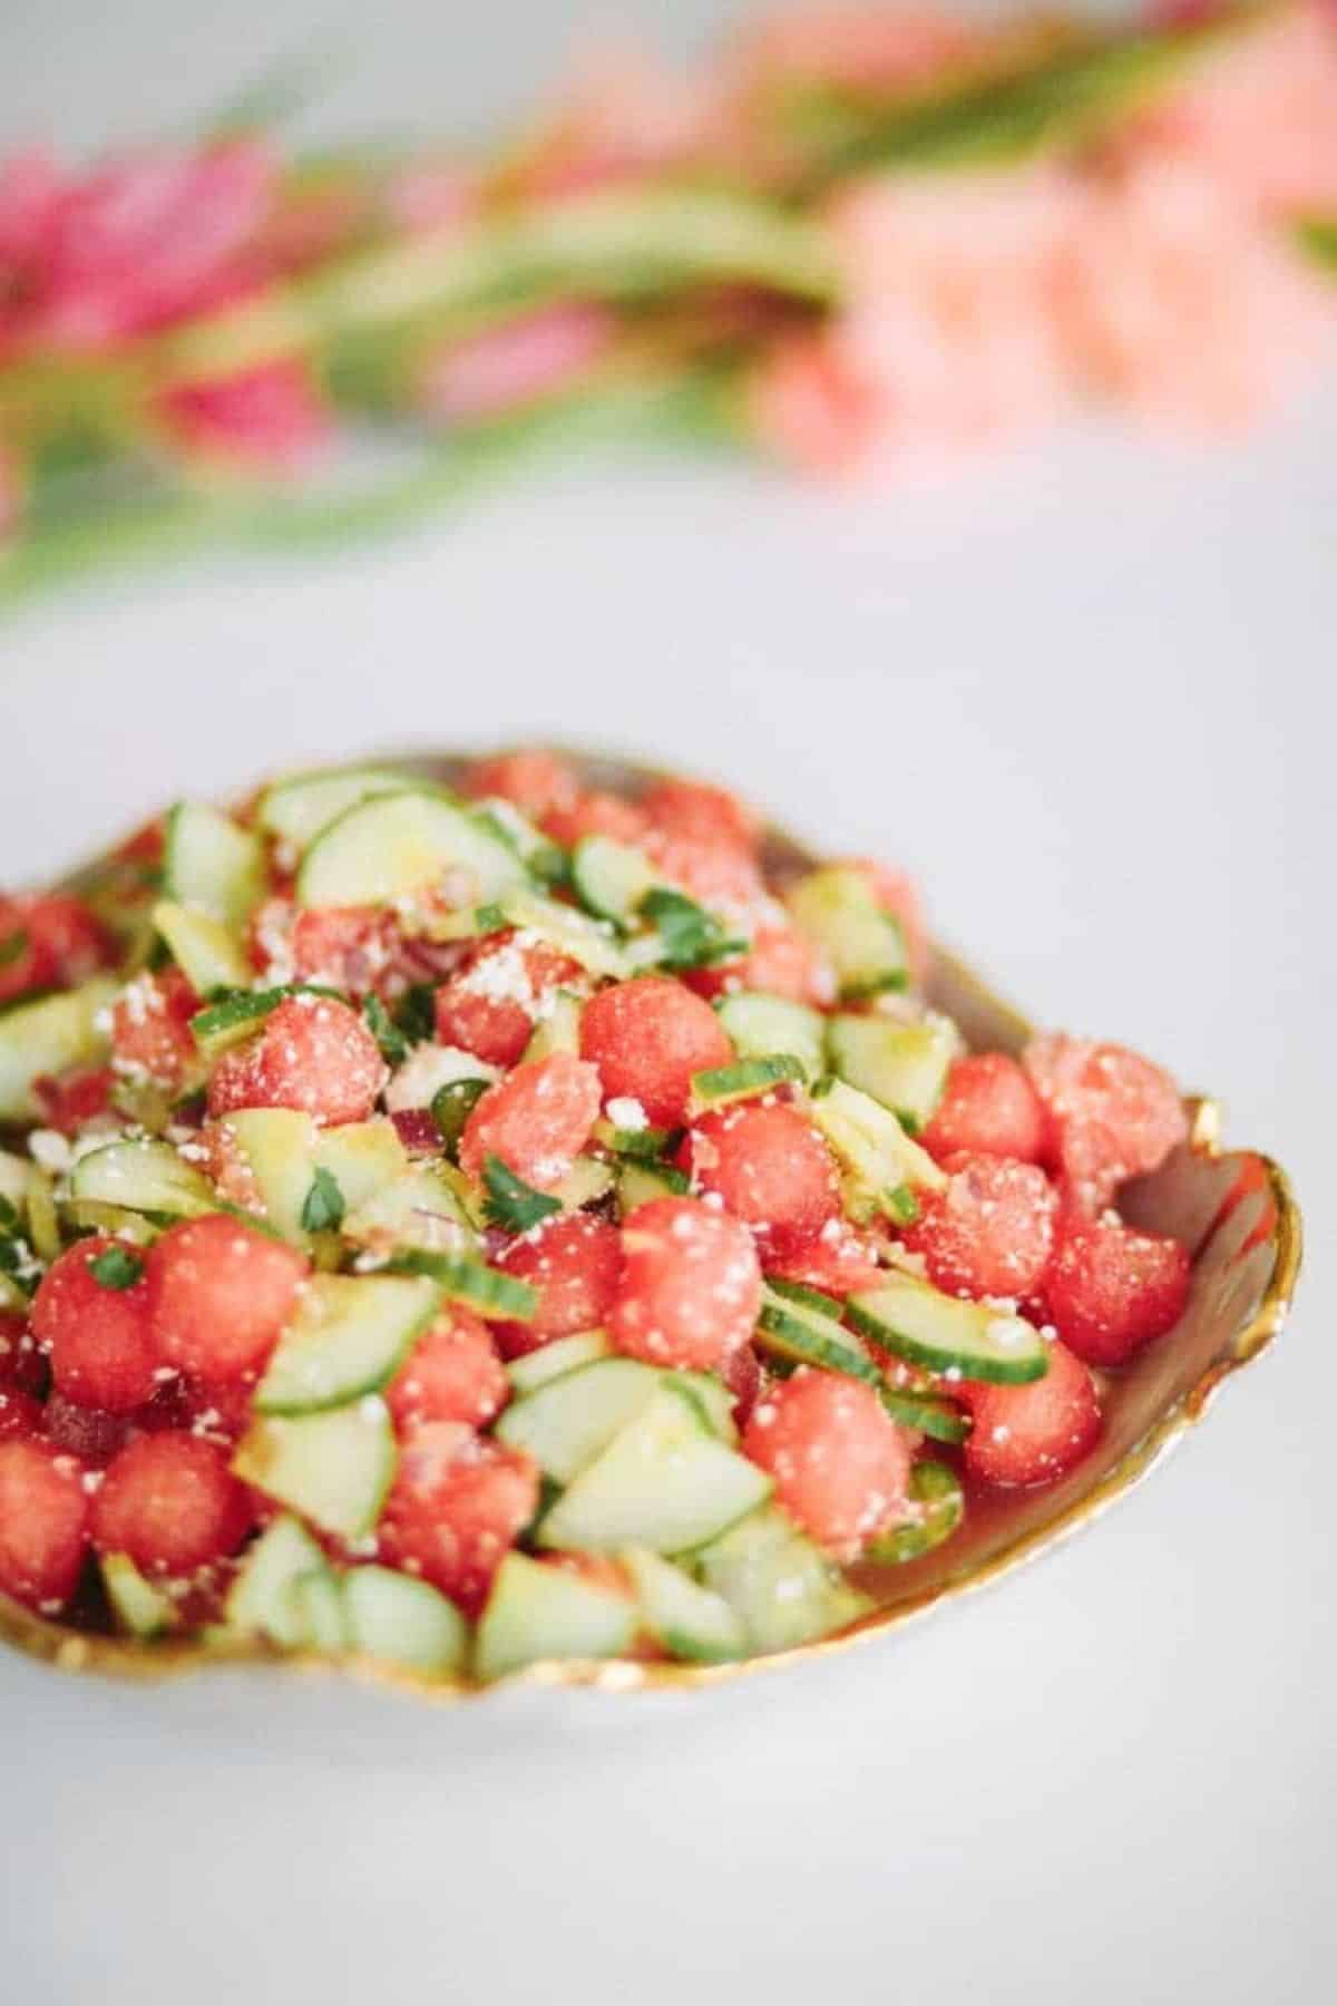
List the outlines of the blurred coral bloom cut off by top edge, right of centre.
{"type": "Polygon", "coordinates": [[[742,46],[754,82],[810,78],[870,88],[914,88],[968,62],[984,46],[978,24],[936,8],[790,8],[742,46]]]}

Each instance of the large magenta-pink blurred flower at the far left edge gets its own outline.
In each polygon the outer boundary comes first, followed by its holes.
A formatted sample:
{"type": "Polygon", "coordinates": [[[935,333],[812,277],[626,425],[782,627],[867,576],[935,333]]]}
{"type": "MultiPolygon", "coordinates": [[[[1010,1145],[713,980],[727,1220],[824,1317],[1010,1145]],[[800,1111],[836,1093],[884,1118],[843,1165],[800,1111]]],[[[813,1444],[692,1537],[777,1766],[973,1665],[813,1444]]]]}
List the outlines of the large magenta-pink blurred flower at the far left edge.
{"type": "Polygon", "coordinates": [[[271,197],[255,140],[158,148],[84,177],[20,154],[0,173],[0,341],[98,349],[216,303],[247,281],[271,197]]]}

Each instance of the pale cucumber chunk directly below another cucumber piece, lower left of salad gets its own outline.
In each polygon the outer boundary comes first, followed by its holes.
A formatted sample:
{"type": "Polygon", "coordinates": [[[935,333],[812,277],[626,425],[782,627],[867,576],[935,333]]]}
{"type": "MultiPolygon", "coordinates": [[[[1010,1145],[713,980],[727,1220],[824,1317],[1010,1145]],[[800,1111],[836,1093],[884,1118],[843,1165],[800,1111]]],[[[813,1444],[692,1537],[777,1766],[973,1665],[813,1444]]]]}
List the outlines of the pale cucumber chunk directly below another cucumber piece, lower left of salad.
{"type": "Polygon", "coordinates": [[[395,1430],[377,1394],[325,1414],[263,1414],[237,1444],[233,1470],[323,1533],[363,1539],[395,1480],[395,1430]]]}

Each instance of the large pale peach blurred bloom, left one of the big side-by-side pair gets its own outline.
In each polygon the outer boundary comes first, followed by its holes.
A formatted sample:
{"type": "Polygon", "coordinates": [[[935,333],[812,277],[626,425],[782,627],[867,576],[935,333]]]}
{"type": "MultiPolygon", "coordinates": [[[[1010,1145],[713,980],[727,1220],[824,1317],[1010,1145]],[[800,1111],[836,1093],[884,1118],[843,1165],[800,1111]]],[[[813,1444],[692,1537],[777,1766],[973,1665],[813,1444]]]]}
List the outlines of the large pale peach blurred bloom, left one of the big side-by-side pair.
{"type": "Polygon", "coordinates": [[[1054,287],[1078,213],[1076,185],[1046,169],[840,197],[848,305],[764,371],[762,433],[830,467],[932,461],[1048,419],[1066,393],[1054,287]]]}

